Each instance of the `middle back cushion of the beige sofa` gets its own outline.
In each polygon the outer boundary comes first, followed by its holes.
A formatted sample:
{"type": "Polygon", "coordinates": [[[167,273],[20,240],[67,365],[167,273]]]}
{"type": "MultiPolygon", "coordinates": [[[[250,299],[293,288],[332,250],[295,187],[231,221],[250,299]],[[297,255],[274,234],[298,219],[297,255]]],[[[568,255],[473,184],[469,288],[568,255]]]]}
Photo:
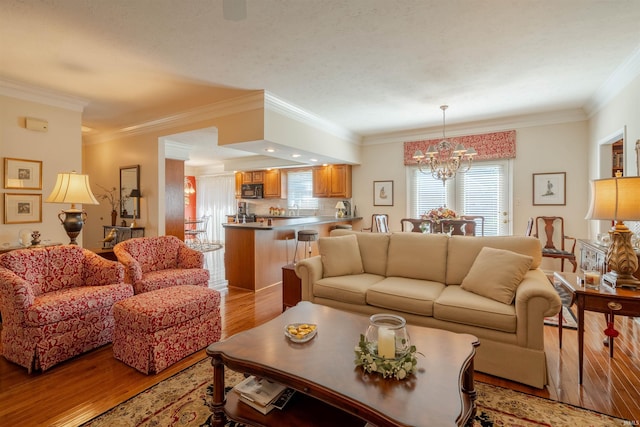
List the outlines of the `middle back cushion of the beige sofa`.
{"type": "Polygon", "coordinates": [[[448,240],[446,234],[391,234],[386,276],[445,283],[448,240]]]}

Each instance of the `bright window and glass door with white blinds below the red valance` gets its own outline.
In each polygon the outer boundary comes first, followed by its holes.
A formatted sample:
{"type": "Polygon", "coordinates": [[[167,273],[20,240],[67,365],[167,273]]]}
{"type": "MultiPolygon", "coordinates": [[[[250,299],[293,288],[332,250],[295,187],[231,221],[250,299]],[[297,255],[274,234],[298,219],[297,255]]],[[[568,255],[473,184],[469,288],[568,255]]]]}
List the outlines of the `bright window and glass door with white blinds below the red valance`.
{"type": "Polygon", "coordinates": [[[485,236],[510,233],[509,221],[505,221],[510,204],[508,160],[476,162],[445,185],[415,166],[407,169],[412,218],[446,205],[460,215],[483,216],[485,236]]]}

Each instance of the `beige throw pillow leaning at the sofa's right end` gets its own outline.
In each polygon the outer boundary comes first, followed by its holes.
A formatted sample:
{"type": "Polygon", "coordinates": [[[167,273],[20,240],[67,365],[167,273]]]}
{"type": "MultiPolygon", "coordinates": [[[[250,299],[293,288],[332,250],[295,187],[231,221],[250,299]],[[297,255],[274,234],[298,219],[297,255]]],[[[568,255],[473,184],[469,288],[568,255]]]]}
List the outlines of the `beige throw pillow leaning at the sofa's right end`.
{"type": "Polygon", "coordinates": [[[484,247],[460,286],[465,291],[511,304],[516,288],[532,262],[527,255],[484,247]]]}

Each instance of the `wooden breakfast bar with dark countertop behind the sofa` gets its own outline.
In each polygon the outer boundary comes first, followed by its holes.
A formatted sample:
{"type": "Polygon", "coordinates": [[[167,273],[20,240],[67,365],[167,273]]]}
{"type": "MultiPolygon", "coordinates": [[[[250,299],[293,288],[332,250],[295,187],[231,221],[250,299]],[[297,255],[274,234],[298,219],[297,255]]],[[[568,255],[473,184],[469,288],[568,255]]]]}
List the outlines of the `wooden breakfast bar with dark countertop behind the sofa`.
{"type": "MultiPolygon", "coordinates": [[[[223,224],[225,232],[224,267],[229,286],[257,291],[282,281],[282,266],[296,255],[296,236],[300,230],[314,230],[325,237],[339,224],[352,224],[359,217],[313,216],[272,218],[263,222],[223,224]]],[[[312,255],[317,245],[311,245],[312,255]]],[[[305,257],[298,245],[296,259],[305,257]]]]}

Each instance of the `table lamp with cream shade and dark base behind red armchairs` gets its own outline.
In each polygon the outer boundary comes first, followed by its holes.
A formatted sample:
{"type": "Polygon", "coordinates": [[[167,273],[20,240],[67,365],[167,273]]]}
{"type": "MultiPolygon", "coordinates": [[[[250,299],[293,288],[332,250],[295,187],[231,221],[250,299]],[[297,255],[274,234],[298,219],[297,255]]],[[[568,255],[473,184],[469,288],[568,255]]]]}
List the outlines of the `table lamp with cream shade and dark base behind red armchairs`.
{"type": "Polygon", "coordinates": [[[77,245],[76,237],[82,231],[82,226],[87,220],[87,212],[84,209],[76,208],[76,204],[97,205],[91,186],[89,185],[89,175],[82,175],[76,172],[64,172],[58,174],[56,185],[49,197],[45,200],[47,203],[71,203],[70,209],[63,209],[58,214],[58,219],[64,231],[71,239],[69,244],[77,245]],[[62,215],[64,214],[64,219],[62,215]]]}

